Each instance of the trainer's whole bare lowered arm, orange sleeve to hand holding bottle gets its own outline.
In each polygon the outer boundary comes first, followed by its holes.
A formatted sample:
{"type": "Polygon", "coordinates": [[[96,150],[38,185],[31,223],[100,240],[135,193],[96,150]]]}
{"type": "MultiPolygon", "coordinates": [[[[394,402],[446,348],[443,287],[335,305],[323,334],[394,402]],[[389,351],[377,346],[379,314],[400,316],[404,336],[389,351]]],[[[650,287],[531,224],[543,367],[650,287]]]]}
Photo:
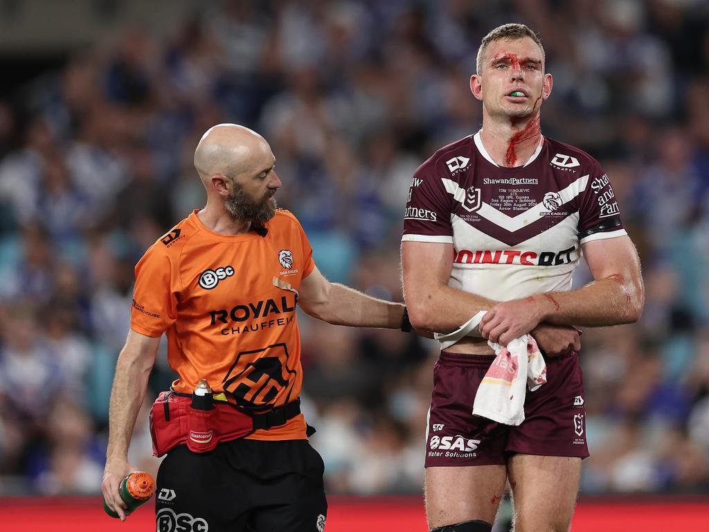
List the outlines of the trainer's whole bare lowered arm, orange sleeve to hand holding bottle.
{"type": "Polygon", "coordinates": [[[116,375],[111,389],[108,414],[108,448],[101,489],[108,506],[125,519],[125,503],[118,494],[118,484],[133,470],[128,462],[128,444],[133,436],[135,419],[145,399],[147,377],[155,364],[160,338],[151,338],[131,330],[118,355],[116,375]]]}

